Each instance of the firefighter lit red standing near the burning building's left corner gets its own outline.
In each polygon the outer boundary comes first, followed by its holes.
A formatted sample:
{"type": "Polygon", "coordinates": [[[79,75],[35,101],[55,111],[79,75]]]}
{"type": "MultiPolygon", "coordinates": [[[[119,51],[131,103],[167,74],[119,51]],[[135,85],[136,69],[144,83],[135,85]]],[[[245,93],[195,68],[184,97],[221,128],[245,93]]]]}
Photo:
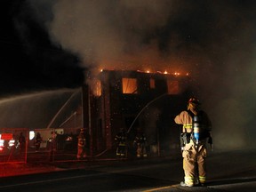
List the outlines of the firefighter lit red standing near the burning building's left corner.
{"type": "Polygon", "coordinates": [[[77,142],[77,159],[81,160],[88,156],[89,152],[89,133],[87,129],[82,128],[78,135],[77,142]]]}

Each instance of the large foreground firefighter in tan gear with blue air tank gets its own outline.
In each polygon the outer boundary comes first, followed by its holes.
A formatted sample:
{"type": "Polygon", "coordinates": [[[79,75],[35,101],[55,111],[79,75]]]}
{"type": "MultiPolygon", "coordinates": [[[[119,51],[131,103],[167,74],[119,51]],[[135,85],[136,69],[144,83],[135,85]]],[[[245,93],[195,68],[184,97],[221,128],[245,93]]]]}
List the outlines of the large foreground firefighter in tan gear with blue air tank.
{"type": "Polygon", "coordinates": [[[191,98],[188,100],[188,110],[174,118],[176,124],[183,124],[180,137],[184,143],[181,149],[185,177],[180,182],[182,187],[205,185],[206,143],[208,141],[212,145],[212,123],[199,106],[199,100],[191,98]]]}

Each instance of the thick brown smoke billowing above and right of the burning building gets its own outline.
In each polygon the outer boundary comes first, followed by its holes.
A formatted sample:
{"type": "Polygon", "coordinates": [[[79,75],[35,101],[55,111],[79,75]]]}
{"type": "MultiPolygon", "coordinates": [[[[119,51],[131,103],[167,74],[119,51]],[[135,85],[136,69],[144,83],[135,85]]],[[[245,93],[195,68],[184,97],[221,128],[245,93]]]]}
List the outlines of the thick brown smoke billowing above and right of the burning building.
{"type": "Polygon", "coordinates": [[[52,42],[80,55],[85,67],[188,72],[212,118],[215,144],[252,141],[256,2],[29,2],[41,16],[49,5],[52,42]]]}

